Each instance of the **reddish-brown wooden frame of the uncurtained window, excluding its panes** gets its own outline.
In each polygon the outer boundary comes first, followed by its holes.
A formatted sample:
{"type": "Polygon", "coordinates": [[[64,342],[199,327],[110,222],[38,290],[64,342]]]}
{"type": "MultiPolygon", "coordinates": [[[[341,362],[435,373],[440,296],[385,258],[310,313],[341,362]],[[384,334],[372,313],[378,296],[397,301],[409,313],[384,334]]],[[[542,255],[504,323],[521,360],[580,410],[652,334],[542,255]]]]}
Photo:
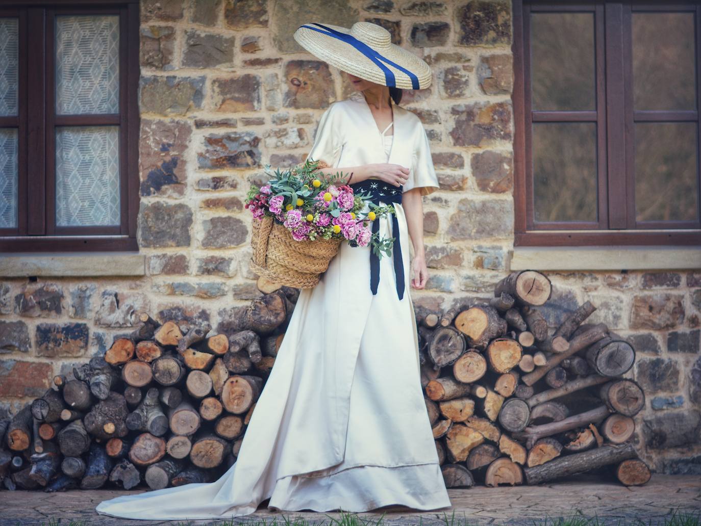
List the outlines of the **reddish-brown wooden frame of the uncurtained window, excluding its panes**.
{"type": "MultiPolygon", "coordinates": [[[[627,199],[633,187],[634,151],[632,132],[625,128],[641,119],[683,121],[695,120],[697,125],[697,155],[701,159],[701,5],[698,1],[676,1],[660,6],[660,1],[567,1],[567,0],[512,0],[514,41],[514,245],[516,247],[573,247],[592,245],[701,245],[701,224],[698,221],[679,224],[674,230],[663,230],[667,225],[650,223],[648,229],[636,228],[634,202],[627,199]],[[658,4],[658,5],[655,5],[658,4]],[[632,8],[632,6],[634,6],[632,8]],[[633,11],[693,11],[695,13],[697,58],[697,109],[680,111],[635,111],[632,109],[632,62],[630,42],[625,28],[625,17],[633,11]],[[529,20],[530,11],[587,11],[594,13],[595,53],[597,73],[597,110],[585,112],[530,111],[529,86],[529,20]],[[624,28],[623,33],[612,23],[624,28]],[[618,39],[616,38],[618,37],[618,39]],[[604,60],[604,56],[606,60],[604,60]],[[605,80],[604,80],[605,79],[605,80]],[[605,97],[602,96],[605,94],[605,97]],[[531,118],[527,118],[528,112],[531,118]],[[574,116],[573,113],[578,113],[574,116]],[[682,115],[682,113],[684,113],[682,115]],[[693,116],[690,115],[693,113],[693,116]],[[566,120],[563,120],[566,119],[566,120]],[[531,122],[592,122],[597,123],[597,172],[599,221],[595,223],[539,223],[533,222],[533,177],[531,157],[531,122]],[[621,151],[624,155],[608,155],[621,151]],[[613,174],[613,177],[609,177],[613,174]],[[594,230],[599,228],[599,230],[594,230]],[[681,228],[684,228],[683,230],[681,228]]],[[[629,20],[627,21],[629,22],[629,20]]],[[[701,160],[699,160],[701,162],[701,160]]],[[[699,185],[701,187],[701,185],[699,185]]],[[[701,208],[701,188],[698,204],[701,208]]]]}

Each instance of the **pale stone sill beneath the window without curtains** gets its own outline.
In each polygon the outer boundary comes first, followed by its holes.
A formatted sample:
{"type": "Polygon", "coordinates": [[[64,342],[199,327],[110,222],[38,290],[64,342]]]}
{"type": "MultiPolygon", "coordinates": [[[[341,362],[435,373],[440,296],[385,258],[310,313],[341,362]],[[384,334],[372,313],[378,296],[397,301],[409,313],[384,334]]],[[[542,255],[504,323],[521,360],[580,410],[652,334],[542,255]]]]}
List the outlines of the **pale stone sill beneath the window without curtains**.
{"type": "Polygon", "coordinates": [[[701,268],[700,247],[515,247],[511,270],[701,268]]]}

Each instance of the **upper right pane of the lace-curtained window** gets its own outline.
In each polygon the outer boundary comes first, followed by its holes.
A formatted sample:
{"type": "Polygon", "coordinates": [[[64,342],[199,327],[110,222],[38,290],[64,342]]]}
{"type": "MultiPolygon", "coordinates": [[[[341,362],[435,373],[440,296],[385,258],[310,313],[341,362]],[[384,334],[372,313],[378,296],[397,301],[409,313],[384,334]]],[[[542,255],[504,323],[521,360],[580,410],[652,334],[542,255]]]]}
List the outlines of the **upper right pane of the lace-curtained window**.
{"type": "Polygon", "coordinates": [[[118,113],[118,66],[118,17],[56,17],[56,113],[118,113]]]}

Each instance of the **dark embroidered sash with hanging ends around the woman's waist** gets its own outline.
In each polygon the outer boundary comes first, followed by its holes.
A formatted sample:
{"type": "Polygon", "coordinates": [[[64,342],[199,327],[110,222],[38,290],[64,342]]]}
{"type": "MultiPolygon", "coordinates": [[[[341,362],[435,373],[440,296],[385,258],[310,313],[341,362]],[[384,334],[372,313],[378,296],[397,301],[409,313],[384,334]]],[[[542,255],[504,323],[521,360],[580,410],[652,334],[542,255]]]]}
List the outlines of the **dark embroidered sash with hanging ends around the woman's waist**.
{"type": "MultiPolygon", "coordinates": [[[[402,186],[394,186],[379,179],[365,179],[360,183],[351,184],[355,193],[369,193],[372,202],[379,205],[380,201],[388,204],[402,203],[402,186]]],[[[372,222],[372,233],[380,230],[379,219],[372,222]]],[[[392,235],[395,240],[392,244],[392,258],[395,268],[395,281],[397,282],[397,296],[400,300],[404,297],[404,263],[402,262],[402,247],[399,242],[400,230],[397,214],[392,214],[392,235]]],[[[373,295],[377,293],[377,285],[380,282],[380,259],[370,248],[370,290],[373,295]]]]}

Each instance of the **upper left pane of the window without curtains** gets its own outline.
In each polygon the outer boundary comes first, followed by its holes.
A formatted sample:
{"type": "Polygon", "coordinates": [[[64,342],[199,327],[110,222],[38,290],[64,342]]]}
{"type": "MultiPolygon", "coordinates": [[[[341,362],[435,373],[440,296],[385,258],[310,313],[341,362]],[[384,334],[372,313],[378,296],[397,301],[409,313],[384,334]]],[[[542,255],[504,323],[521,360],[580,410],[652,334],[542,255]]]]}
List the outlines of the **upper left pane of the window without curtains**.
{"type": "Polygon", "coordinates": [[[534,110],[596,109],[593,13],[531,15],[534,110]]]}

